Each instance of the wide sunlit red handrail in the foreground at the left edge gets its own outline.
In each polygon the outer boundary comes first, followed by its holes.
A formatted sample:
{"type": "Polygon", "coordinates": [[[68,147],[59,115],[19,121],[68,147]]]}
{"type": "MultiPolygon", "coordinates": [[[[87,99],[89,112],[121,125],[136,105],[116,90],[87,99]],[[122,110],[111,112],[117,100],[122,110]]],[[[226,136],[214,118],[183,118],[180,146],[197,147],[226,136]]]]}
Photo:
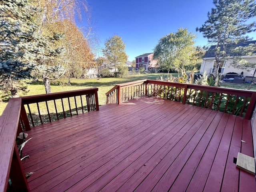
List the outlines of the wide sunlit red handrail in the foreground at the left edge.
{"type": "Polygon", "coordinates": [[[0,192],[5,192],[7,188],[21,103],[21,98],[11,98],[0,116],[0,192]]]}

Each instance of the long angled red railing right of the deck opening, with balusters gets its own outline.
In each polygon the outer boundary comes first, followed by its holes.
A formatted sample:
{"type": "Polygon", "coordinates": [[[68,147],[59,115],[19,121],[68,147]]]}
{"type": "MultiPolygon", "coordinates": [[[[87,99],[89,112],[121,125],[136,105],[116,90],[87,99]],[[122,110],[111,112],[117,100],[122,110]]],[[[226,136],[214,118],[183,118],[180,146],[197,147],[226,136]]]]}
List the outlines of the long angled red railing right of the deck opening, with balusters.
{"type": "Polygon", "coordinates": [[[107,104],[118,103],[142,95],[192,104],[250,119],[256,104],[256,91],[141,80],[118,84],[106,93],[107,104]]]}

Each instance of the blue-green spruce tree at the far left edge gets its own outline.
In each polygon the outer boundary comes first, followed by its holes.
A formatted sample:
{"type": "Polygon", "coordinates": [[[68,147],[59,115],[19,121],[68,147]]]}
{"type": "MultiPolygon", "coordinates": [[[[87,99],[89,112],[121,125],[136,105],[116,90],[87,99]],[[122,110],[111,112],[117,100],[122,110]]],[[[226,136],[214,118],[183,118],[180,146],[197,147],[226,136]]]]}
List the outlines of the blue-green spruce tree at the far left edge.
{"type": "Polygon", "coordinates": [[[0,89],[14,97],[26,89],[22,80],[30,77],[33,68],[28,62],[30,54],[24,51],[36,28],[32,12],[26,0],[2,0],[0,4],[0,89]]]}

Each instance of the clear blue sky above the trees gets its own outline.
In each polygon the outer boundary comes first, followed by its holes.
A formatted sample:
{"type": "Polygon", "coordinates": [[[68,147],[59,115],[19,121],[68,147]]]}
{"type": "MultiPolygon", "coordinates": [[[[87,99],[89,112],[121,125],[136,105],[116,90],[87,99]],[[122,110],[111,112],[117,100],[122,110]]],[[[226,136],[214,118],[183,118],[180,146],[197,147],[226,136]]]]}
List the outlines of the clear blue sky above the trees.
{"type": "Polygon", "coordinates": [[[106,39],[114,34],[126,44],[128,60],[153,52],[158,40],[178,28],[188,28],[197,35],[195,45],[208,45],[207,39],[196,32],[207,20],[212,0],[87,0],[91,17],[104,48],[106,39]]]}

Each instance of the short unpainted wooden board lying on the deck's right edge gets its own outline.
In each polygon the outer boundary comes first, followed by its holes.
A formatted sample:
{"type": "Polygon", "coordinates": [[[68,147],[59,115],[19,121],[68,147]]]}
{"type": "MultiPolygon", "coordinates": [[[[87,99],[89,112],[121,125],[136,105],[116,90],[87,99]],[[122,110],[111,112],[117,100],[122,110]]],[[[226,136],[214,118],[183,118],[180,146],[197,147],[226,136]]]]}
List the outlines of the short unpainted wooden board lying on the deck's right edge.
{"type": "Polygon", "coordinates": [[[238,152],[236,167],[255,175],[255,160],[253,157],[238,152]]]}

